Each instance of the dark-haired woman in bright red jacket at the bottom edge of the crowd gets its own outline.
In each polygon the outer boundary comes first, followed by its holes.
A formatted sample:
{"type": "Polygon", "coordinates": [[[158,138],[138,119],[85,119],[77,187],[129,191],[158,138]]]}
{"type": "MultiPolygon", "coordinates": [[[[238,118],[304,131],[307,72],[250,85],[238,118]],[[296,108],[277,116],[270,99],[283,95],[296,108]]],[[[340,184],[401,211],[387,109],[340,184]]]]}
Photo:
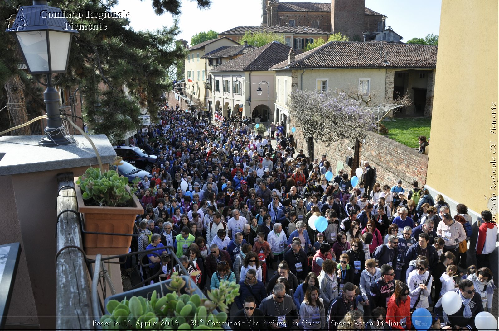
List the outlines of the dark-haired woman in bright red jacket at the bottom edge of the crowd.
{"type": "Polygon", "coordinates": [[[386,323],[392,329],[411,329],[411,298],[409,287],[399,280],[395,281],[395,293],[390,297],[386,310],[386,323]]]}

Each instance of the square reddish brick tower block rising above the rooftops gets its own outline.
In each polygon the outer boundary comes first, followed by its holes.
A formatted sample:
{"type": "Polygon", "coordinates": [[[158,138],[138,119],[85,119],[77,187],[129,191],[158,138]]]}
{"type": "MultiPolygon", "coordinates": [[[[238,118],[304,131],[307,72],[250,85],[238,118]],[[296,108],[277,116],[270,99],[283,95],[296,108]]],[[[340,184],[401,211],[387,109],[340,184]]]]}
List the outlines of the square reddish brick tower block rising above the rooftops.
{"type": "Polygon", "coordinates": [[[331,32],[363,40],[365,0],[331,0],[331,32]]]}

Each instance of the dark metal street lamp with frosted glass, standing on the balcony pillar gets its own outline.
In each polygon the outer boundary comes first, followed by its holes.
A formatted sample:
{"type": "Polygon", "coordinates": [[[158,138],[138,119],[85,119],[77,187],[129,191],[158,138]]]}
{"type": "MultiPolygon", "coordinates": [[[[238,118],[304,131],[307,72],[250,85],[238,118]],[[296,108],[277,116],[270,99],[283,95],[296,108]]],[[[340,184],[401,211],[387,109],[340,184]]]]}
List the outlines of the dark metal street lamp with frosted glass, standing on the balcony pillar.
{"type": "MultiPolygon", "coordinates": [[[[59,116],[59,93],[54,89],[53,73],[67,71],[69,50],[73,34],[77,30],[68,28],[60,8],[51,7],[46,0],[33,0],[33,5],[21,6],[14,23],[5,32],[14,32],[15,39],[30,74],[46,74],[43,101],[47,111],[46,136],[38,142],[41,146],[68,145],[64,127],[59,116]]],[[[60,78],[59,78],[60,79],[60,78]]]]}

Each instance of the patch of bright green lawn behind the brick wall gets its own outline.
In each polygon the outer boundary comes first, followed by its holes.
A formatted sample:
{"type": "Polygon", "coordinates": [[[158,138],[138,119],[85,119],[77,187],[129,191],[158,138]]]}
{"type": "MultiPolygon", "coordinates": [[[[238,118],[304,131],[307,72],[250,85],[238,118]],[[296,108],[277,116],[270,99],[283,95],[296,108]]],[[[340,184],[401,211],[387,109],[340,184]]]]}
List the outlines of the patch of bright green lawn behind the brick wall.
{"type": "Polygon", "coordinates": [[[418,137],[430,137],[431,117],[395,118],[381,122],[388,129],[388,137],[412,148],[419,148],[418,137]],[[393,121],[395,120],[395,121],[393,121]]]}

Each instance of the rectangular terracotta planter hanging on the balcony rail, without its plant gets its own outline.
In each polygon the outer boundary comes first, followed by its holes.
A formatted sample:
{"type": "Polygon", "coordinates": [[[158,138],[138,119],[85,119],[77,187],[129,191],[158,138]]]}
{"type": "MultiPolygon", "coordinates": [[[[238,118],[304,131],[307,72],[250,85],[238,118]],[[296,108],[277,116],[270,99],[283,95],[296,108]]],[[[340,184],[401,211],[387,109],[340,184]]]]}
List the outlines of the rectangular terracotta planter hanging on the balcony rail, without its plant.
{"type": "MultiPolygon", "coordinates": [[[[78,212],[83,214],[83,229],[92,232],[132,234],[137,214],[144,209],[139,199],[132,194],[133,207],[99,207],[86,206],[79,185],[78,177],[74,177],[78,212]]],[[[127,185],[126,190],[130,192],[127,185]]],[[[113,236],[105,234],[83,234],[83,248],[88,255],[118,255],[128,253],[132,242],[130,236],[113,236]]]]}

